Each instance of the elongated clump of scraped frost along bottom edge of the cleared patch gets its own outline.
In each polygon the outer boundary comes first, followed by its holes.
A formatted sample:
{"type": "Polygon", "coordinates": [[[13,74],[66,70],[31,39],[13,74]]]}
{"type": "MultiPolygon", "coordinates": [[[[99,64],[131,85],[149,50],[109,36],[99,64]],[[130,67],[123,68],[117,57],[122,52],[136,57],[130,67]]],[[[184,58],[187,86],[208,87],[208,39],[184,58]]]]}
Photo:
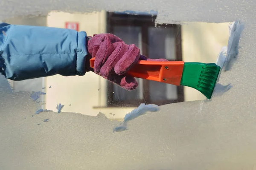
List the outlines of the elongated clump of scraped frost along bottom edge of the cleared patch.
{"type": "Polygon", "coordinates": [[[157,105],[154,105],[154,104],[145,105],[144,103],[140,104],[138,108],[135,108],[133,111],[125,115],[124,121],[118,127],[115,127],[113,132],[121,132],[121,131],[127,130],[128,121],[135,119],[138,116],[141,116],[147,113],[148,111],[156,112],[158,110],[159,110],[159,107],[157,105]]]}

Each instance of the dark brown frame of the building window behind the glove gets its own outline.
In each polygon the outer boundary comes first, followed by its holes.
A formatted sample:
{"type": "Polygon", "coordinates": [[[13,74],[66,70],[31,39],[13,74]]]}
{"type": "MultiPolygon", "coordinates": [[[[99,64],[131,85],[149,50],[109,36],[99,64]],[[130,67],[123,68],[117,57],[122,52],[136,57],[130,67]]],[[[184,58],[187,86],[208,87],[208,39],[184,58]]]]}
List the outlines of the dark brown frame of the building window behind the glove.
{"type": "MultiPolygon", "coordinates": [[[[181,26],[177,24],[157,24],[155,25],[156,15],[131,15],[131,14],[116,14],[114,12],[107,12],[107,33],[113,33],[114,26],[139,26],[142,34],[142,53],[148,56],[148,28],[149,27],[174,27],[175,28],[175,48],[176,59],[169,61],[182,61],[182,45],[181,45],[181,26]]],[[[113,33],[114,34],[114,33],[113,33]]],[[[166,105],[169,103],[183,102],[184,92],[183,86],[177,86],[177,99],[160,100],[151,102],[149,93],[149,80],[143,79],[143,99],[117,101],[113,97],[112,82],[107,84],[107,107],[137,107],[140,103],[166,105]]]]}

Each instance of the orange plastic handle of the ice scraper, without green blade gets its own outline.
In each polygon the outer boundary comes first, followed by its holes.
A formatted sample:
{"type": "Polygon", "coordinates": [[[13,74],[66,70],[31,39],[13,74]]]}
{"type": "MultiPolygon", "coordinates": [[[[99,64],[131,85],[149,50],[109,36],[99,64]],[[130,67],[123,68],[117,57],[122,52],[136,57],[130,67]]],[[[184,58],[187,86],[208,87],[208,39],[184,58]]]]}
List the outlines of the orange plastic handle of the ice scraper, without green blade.
{"type": "MultiPolygon", "coordinates": [[[[90,67],[94,67],[95,57],[90,59],[90,67]]],[[[180,85],[183,73],[183,61],[145,61],[139,60],[127,74],[141,79],[180,85]]]]}

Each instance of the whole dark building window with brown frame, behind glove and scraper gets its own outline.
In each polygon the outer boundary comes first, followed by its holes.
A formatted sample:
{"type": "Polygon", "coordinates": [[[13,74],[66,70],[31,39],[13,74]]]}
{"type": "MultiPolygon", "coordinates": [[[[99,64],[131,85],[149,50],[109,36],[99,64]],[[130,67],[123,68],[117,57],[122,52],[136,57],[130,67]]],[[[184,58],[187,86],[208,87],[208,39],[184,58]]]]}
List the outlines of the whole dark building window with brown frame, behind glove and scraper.
{"type": "MultiPolygon", "coordinates": [[[[157,25],[156,16],[115,14],[107,15],[107,32],[120,37],[126,44],[135,44],[148,58],[181,61],[180,25],[157,25]]],[[[137,107],[140,103],[165,105],[183,102],[182,86],[137,79],[139,87],[126,91],[108,83],[108,106],[137,107]]]]}

